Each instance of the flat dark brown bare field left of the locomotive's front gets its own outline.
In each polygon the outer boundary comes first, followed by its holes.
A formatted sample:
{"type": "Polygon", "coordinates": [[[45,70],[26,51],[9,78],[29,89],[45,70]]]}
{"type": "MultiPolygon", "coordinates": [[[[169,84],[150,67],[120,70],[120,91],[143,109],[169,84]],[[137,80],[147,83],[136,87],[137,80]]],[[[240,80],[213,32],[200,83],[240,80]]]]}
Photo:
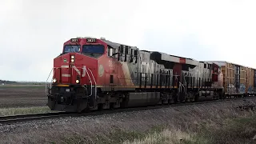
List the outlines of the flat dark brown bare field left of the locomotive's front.
{"type": "Polygon", "coordinates": [[[46,106],[44,86],[0,86],[0,108],[46,106]]]}

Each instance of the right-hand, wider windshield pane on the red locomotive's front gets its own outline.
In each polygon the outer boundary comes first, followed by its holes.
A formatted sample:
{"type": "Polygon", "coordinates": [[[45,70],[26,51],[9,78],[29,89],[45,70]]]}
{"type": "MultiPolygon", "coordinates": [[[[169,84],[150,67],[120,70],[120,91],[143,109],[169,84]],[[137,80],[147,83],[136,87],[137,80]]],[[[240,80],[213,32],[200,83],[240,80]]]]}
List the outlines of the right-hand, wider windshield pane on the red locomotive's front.
{"type": "Polygon", "coordinates": [[[98,58],[104,53],[104,46],[102,45],[84,45],[82,46],[82,54],[90,57],[98,58]]]}

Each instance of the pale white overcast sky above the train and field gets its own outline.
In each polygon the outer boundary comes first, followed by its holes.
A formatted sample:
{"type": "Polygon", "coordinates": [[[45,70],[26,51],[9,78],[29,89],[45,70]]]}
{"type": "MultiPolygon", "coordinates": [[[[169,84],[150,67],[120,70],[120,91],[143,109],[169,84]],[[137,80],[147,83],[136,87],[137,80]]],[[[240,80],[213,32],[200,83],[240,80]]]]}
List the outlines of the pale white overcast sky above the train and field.
{"type": "Polygon", "coordinates": [[[0,79],[46,81],[77,36],[256,68],[256,2],[246,0],[2,0],[0,79]]]}

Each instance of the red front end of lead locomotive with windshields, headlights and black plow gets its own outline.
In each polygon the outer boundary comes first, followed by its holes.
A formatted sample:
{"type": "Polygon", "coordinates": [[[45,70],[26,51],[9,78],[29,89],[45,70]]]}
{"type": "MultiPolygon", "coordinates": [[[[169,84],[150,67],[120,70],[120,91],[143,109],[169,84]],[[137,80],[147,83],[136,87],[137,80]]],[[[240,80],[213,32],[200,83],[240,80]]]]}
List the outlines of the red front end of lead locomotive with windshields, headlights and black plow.
{"type": "Polygon", "coordinates": [[[95,106],[98,58],[106,54],[106,43],[96,38],[71,38],[62,54],[54,58],[53,81],[49,88],[51,110],[81,112],[95,106]]]}

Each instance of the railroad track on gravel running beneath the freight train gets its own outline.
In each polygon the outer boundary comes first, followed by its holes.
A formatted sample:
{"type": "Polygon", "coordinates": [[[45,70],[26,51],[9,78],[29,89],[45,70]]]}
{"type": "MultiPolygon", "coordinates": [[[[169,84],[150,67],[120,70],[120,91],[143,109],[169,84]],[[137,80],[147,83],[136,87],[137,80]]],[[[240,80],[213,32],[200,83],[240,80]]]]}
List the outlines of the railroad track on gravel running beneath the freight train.
{"type": "Polygon", "coordinates": [[[101,110],[101,111],[92,111],[90,113],[69,113],[69,112],[58,112],[58,113],[45,113],[45,114],[24,114],[24,115],[12,115],[12,116],[2,116],[0,117],[0,124],[11,124],[14,122],[27,122],[32,120],[39,119],[47,119],[47,118],[65,118],[65,117],[81,117],[81,116],[94,116],[94,115],[102,115],[102,114],[114,114],[114,113],[122,113],[129,111],[138,111],[138,110],[154,110],[154,109],[162,109],[174,106],[190,106],[190,105],[200,105],[206,103],[214,103],[214,102],[226,102],[226,101],[235,101],[242,99],[249,99],[256,97],[246,97],[246,98],[227,98],[227,99],[218,99],[218,100],[208,100],[202,102],[186,102],[186,103],[177,103],[170,105],[160,105],[160,106],[142,106],[142,107],[134,107],[134,108],[126,108],[126,109],[114,109],[114,110],[101,110]]]}

